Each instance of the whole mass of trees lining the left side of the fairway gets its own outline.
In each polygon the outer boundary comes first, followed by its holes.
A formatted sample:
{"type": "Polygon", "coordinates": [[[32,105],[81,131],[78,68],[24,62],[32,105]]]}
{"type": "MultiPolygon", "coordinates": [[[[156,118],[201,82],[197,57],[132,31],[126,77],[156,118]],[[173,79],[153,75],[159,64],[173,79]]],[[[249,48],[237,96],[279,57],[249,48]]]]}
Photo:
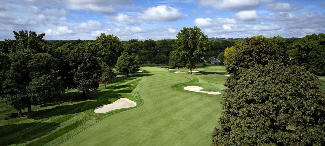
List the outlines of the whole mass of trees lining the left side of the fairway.
{"type": "Polygon", "coordinates": [[[19,118],[21,110],[28,108],[27,116],[32,116],[33,103],[57,98],[66,89],[82,91],[85,97],[99,83],[106,87],[116,77],[113,68],[127,73],[139,70],[138,57],[122,55],[123,43],[110,34],[93,41],[50,43],[43,39],[44,33],[13,32],[16,39],[0,42],[0,98],[17,109],[19,118]]]}

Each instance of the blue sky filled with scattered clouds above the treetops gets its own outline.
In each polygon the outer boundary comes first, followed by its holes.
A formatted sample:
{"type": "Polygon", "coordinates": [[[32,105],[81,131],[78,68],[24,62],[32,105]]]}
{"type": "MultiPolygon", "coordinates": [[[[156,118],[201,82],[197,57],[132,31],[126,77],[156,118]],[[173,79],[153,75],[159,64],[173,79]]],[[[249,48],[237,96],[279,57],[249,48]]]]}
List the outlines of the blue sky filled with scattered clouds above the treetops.
{"type": "Polygon", "coordinates": [[[0,40],[14,31],[44,39],[175,39],[183,27],[208,37],[298,37],[325,33],[320,0],[5,0],[0,2],[0,40]]]}

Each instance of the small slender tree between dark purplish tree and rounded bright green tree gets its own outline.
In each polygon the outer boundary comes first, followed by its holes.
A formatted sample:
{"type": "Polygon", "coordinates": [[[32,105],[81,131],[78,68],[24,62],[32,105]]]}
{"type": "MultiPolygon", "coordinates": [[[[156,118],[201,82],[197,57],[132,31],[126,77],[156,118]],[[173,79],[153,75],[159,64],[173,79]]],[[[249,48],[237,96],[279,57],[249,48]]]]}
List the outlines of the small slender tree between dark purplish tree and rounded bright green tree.
{"type": "Polygon", "coordinates": [[[102,69],[102,76],[99,78],[98,83],[100,84],[105,84],[105,89],[106,89],[106,84],[112,83],[112,79],[116,77],[116,74],[114,73],[112,67],[110,67],[107,63],[103,62],[100,65],[102,69]]]}

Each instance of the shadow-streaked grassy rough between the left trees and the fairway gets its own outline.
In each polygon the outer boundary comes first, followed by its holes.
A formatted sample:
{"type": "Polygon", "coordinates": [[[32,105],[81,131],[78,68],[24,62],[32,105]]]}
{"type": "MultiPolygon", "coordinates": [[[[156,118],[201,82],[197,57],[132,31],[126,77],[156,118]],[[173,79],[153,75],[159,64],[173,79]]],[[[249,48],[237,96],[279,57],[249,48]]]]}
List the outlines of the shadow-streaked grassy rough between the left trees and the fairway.
{"type": "MultiPolygon", "coordinates": [[[[98,106],[127,97],[136,101],[136,107],[139,107],[143,104],[139,90],[146,75],[148,74],[140,73],[132,77],[116,78],[114,84],[108,85],[108,89],[100,84],[99,90],[86,93],[86,99],[82,99],[82,94],[76,93],[76,90],[69,90],[62,98],[33,105],[32,118],[16,118],[17,111],[0,100],[0,145],[57,145],[101,119],[126,110],[96,114],[93,110],[98,106]]],[[[26,112],[25,109],[24,116],[26,112]]]]}

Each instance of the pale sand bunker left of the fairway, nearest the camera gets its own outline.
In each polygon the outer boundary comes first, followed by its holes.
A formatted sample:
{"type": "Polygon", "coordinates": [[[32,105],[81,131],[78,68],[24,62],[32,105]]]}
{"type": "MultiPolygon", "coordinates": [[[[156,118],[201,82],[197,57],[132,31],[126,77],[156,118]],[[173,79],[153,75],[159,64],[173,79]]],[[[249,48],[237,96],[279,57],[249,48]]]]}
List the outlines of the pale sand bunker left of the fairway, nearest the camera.
{"type": "Polygon", "coordinates": [[[95,113],[106,113],[106,112],[109,112],[114,109],[134,107],[134,106],[136,106],[136,102],[123,97],[123,98],[117,99],[116,101],[114,101],[111,104],[96,107],[94,109],[94,112],[95,113]]]}

